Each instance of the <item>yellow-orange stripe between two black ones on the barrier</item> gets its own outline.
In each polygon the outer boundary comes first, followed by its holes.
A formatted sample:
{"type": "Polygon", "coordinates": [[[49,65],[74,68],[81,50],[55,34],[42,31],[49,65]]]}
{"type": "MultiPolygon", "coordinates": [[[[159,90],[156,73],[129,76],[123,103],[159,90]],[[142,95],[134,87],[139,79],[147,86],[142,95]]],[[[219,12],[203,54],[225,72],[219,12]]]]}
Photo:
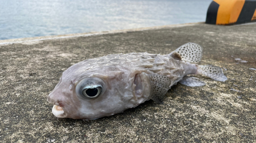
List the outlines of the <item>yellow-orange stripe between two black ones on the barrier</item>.
{"type": "Polygon", "coordinates": [[[216,24],[229,24],[237,22],[245,0],[214,0],[219,4],[216,24]]]}

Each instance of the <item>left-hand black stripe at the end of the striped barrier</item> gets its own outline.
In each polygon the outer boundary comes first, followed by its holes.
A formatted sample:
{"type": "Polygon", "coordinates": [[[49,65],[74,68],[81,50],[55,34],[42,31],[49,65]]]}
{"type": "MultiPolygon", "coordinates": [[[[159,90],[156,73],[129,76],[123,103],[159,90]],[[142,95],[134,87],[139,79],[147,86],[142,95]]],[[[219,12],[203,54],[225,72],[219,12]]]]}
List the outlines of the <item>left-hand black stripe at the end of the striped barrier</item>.
{"type": "Polygon", "coordinates": [[[207,10],[207,15],[206,15],[205,23],[216,24],[216,19],[217,19],[217,13],[218,13],[219,6],[220,5],[217,4],[214,1],[212,1],[210,3],[210,6],[209,6],[209,8],[207,10]]]}

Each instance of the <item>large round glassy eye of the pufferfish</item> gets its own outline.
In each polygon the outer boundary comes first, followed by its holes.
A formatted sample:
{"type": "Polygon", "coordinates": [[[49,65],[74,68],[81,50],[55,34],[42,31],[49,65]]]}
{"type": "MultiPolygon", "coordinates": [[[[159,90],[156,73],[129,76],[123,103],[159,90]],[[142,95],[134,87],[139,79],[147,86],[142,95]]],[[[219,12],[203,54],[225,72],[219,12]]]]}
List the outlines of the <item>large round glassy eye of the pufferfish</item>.
{"type": "Polygon", "coordinates": [[[97,77],[88,77],[80,80],[75,87],[76,95],[81,99],[95,99],[104,94],[105,82],[97,77]]]}

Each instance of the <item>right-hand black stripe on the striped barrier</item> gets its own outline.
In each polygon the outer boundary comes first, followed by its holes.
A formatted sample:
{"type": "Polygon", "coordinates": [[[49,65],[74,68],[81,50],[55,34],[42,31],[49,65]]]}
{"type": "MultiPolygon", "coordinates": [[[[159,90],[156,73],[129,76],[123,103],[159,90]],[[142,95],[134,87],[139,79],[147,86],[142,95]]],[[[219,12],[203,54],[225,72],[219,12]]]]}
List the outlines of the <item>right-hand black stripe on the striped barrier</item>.
{"type": "Polygon", "coordinates": [[[250,22],[256,9],[256,0],[245,0],[244,7],[238,17],[236,24],[250,22]]]}

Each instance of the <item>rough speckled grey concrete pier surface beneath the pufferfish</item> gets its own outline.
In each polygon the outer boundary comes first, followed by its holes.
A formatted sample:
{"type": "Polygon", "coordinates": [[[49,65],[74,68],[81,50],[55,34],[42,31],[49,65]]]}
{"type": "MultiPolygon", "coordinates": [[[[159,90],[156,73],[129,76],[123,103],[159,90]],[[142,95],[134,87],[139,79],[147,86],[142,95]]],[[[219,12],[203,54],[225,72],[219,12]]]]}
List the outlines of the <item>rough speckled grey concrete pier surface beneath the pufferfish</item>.
{"type": "Polygon", "coordinates": [[[188,24],[144,31],[0,45],[0,140],[3,142],[256,142],[256,24],[188,24]],[[175,85],[163,104],[147,101],[118,115],[57,119],[47,95],[61,73],[112,53],[167,54],[195,42],[202,65],[223,67],[225,82],[175,85]],[[240,58],[237,61],[235,59],[240,58]],[[226,70],[225,70],[226,69],[226,70]]]}

